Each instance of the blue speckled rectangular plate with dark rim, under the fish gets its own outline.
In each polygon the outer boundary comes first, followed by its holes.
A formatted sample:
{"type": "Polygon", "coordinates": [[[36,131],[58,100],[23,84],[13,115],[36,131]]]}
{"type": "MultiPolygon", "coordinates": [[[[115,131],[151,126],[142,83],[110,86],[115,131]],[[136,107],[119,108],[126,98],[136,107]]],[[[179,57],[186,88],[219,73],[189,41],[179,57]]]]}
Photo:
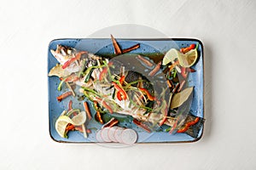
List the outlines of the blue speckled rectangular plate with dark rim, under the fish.
{"type": "MultiPolygon", "coordinates": [[[[195,116],[204,118],[204,64],[203,64],[203,46],[201,41],[191,38],[174,38],[174,39],[117,39],[121,48],[129,48],[136,43],[140,43],[140,48],[131,51],[134,54],[165,54],[170,48],[184,48],[188,47],[192,43],[199,43],[198,54],[199,59],[192,68],[196,71],[193,74],[189,74],[189,87],[194,86],[193,101],[190,108],[190,112],[195,116]]],[[[48,48],[48,72],[58,62],[55,57],[50,53],[50,49],[55,49],[57,44],[64,46],[77,48],[79,50],[85,50],[92,54],[105,55],[113,54],[113,45],[111,39],[106,38],[85,38],[85,39],[56,39],[49,43],[48,48]]],[[[157,55],[156,55],[157,57],[157,55]]],[[[63,110],[67,110],[67,105],[70,99],[73,100],[73,108],[78,108],[81,111],[84,110],[83,104],[78,100],[78,97],[68,97],[63,99],[60,103],[56,97],[61,95],[63,91],[58,91],[57,87],[60,80],[58,77],[48,77],[48,89],[49,89],[49,134],[52,139],[57,142],[67,143],[96,143],[96,129],[99,129],[102,125],[95,121],[90,121],[87,127],[92,130],[88,139],[84,139],[82,133],[77,131],[69,132],[68,139],[61,138],[55,130],[55,121],[58,116],[61,115],[63,110]]],[[[65,91],[65,89],[64,89],[65,91]]],[[[86,99],[85,99],[86,100],[86,99]]],[[[90,105],[90,110],[93,110],[90,105]]],[[[95,111],[92,111],[92,115],[95,115],[95,111]]],[[[131,127],[138,133],[137,143],[173,143],[173,142],[194,142],[201,139],[203,133],[203,126],[200,133],[196,138],[190,137],[186,133],[169,134],[166,132],[154,132],[146,133],[141,128],[133,125],[133,123],[123,122],[125,127],[131,127]]]]}

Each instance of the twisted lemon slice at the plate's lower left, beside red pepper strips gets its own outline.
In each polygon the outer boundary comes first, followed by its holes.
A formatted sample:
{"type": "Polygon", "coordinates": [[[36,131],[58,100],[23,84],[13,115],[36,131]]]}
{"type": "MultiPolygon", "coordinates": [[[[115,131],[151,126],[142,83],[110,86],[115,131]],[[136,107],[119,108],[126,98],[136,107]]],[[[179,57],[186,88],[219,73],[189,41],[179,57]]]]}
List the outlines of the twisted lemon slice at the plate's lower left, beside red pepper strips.
{"type": "Polygon", "coordinates": [[[68,123],[71,123],[74,126],[80,126],[83,125],[85,121],[86,114],[84,111],[79,112],[79,114],[77,116],[73,116],[72,119],[69,116],[61,114],[61,116],[59,116],[55,122],[55,129],[62,138],[65,138],[66,127],[68,123]]]}

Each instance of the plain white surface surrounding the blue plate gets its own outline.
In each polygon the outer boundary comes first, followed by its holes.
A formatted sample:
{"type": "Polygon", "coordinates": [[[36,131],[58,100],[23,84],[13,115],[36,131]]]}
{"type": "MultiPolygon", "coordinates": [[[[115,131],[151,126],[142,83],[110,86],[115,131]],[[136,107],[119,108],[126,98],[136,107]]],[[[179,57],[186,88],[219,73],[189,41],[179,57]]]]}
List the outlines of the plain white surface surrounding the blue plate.
{"type": "Polygon", "coordinates": [[[0,169],[255,169],[256,3],[0,1],[0,169]],[[206,126],[193,144],[113,149],[49,137],[49,41],[118,24],[205,45],[206,126]]]}

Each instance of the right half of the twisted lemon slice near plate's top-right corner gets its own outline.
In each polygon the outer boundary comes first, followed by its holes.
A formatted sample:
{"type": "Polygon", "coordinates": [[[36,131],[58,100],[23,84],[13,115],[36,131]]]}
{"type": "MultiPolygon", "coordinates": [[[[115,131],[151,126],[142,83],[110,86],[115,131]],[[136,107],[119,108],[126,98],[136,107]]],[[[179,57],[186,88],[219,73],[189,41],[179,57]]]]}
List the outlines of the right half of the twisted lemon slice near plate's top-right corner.
{"type": "Polygon", "coordinates": [[[191,49],[189,52],[178,55],[177,57],[179,65],[183,67],[190,67],[192,65],[195,65],[197,58],[198,54],[196,49],[191,49]]]}

